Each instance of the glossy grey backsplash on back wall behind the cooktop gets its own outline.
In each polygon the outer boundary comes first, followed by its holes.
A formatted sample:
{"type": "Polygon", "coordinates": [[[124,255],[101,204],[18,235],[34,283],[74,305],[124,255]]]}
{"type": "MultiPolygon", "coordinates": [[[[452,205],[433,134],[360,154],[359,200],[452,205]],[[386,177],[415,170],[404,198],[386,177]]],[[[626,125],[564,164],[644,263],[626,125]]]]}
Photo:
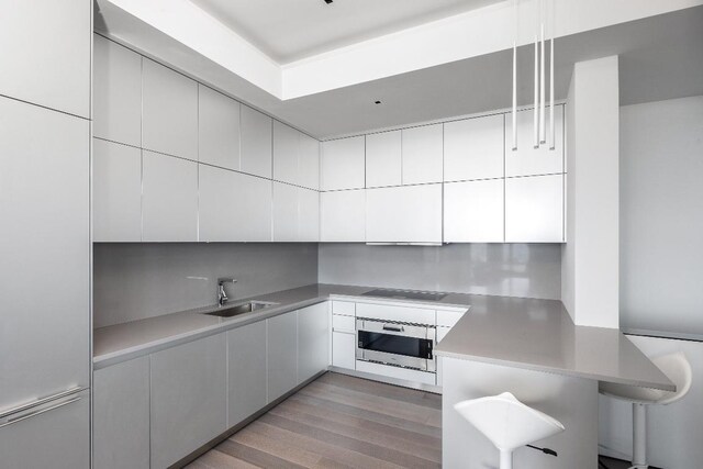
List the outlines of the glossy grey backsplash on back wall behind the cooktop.
{"type": "Polygon", "coordinates": [[[559,244],[367,246],[320,244],[319,280],[558,300],[559,244]]]}

